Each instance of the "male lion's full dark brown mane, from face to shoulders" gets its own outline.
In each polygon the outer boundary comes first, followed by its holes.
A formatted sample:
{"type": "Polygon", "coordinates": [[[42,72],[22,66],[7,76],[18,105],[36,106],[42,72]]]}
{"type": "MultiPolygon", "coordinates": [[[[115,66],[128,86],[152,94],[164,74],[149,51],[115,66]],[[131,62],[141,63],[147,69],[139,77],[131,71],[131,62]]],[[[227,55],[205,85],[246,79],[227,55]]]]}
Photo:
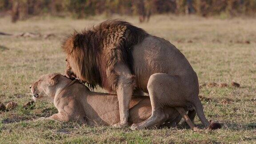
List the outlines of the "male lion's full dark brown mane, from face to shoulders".
{"type": "Polygon", "coordinates": [[[118,81],[115,65],[127,64],[132,72],[132,48],[147,35],[126,21],[107,20],[81,33],[75,31],[62,48],[78,78],[113,92],[118,81]]]}

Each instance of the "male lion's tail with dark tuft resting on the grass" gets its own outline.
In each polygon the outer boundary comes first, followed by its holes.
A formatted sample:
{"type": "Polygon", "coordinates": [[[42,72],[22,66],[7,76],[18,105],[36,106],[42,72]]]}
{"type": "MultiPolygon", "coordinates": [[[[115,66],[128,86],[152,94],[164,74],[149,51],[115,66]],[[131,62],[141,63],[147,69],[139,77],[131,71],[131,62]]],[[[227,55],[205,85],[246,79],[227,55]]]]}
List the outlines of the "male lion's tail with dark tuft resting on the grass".
{"type": "Polygon", "coordinates": [[[194,107],[196,109],[196,113],[197,113],[197,116],[199,117],[199,120],[204,124],[205,127],[208,127],[209,129],[221,128],[220,123],[217,123],[217,122],[210,123],[206,119],[206,117],[204,115],[202,103],[201,103],[200,99],[198,98],[198,96],[196,96],[196,99],[194,101],[194,107]]]}

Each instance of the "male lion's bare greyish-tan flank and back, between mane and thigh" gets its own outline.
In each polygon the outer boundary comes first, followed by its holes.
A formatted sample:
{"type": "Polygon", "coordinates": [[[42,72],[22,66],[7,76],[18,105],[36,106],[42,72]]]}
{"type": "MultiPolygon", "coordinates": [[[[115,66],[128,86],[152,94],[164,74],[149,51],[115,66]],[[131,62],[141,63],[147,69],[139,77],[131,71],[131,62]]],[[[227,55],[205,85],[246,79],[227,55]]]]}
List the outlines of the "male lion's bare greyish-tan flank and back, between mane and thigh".
{"type": "Polygon", "coordinates": [[[170,42],[156,36],[146,37],[132,50],[136,85],[148,92],[149,77],[154,73],[187,75],[193,71],[185,56],[170,42]]]}

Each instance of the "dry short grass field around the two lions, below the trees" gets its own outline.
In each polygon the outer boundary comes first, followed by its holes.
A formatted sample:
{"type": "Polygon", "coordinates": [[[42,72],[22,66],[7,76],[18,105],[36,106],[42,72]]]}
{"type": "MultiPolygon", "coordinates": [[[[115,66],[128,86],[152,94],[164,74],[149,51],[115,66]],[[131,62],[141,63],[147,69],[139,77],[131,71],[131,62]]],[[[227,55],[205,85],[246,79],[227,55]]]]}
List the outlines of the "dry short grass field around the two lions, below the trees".
{"type": "MultiPolygon", "coordinates": [[[[64,36],[102,17],[88,20],[32,18],[10,23],[0,18],[0,31],[6,33],[54,33],[56,37],[24,38],[0,36],[0,101],[15,101],[18,108],[0,112],[0,143],[256,143],[256,20],[252,18],[200,18],[196,16],[153,16],[149,23],[122,17],[176,45],[197,72],[200,84],[227,83],[227,88],[203,87],[200,96],[208,120],[219,121],[216,131],[162,128],[132,131],[129,128],[89,127],[75,122],[36,120],[56,113],[53,104],[36,103],[34,109],[22,105],[31,100],[29,85],[39,76],[64,72],[64,36]],[[240,88],[231,86],[235,81],[240,88]]],[[[196,117],[196,126],[202,124],[196,117]]]]}

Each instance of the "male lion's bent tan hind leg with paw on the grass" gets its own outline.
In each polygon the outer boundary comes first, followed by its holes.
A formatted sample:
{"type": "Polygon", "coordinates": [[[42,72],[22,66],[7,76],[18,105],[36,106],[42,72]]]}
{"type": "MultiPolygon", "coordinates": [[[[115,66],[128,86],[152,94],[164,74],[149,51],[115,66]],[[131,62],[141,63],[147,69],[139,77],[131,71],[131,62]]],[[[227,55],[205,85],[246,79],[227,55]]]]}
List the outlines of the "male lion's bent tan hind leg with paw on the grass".
{"type": "Polygon", "coordinates": [[[152,115],[139,124],[133,124],[132,129],[152,128],[168,120],[172,113],[164,111],[167,107],[185,106],[185,97],[181,78],[178,75],[166,73],[152,74],[148,80],[148,93],[152,105],[152,115]]]}

